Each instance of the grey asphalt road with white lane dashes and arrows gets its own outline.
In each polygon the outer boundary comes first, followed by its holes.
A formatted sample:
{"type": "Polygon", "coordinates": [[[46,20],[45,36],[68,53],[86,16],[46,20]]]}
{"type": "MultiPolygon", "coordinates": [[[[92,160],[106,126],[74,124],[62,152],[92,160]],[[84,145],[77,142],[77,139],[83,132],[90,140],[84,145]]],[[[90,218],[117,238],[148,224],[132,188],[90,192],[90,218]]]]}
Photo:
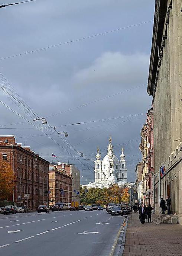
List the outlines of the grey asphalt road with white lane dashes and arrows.
{"type": "Polygon", "coordinates": [[[105,210],[0,215],[0,255],[109,256],[123,220],[105,210]]]}

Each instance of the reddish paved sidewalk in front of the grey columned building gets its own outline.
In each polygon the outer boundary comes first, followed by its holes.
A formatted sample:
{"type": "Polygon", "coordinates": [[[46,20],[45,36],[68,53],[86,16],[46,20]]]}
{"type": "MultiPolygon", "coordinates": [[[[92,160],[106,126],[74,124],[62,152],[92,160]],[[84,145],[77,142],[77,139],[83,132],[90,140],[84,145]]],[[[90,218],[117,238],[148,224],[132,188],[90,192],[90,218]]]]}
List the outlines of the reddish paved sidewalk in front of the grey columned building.
{"type": "Polygon", "coordinates": [[[182,225],[141,224],[139,214],[132,213],[126,231],[123,256],[182,255],[182,225]]]}

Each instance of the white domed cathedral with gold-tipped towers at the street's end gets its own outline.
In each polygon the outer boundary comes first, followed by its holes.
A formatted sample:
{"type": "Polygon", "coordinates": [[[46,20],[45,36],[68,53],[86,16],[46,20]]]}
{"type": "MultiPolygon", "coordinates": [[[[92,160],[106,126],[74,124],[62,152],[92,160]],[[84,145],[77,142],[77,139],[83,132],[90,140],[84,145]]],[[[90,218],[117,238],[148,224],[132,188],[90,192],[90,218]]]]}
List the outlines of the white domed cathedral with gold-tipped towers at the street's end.
{"type": "Polygon", "coordinates": [[[113,145],[111,144],[111,137],[109,139],[109,145],[107,146],[107,155],[101,160],[99,148],[97,148],[97,155],[95,160],[95,182],[87,185],[82,185],[82,188],[109,188],[113,184],[117,184],[123,187],[127,184],[127,168],[124,149],[120,155],[121,160],[118,160],[114,155],[113,145]]]}

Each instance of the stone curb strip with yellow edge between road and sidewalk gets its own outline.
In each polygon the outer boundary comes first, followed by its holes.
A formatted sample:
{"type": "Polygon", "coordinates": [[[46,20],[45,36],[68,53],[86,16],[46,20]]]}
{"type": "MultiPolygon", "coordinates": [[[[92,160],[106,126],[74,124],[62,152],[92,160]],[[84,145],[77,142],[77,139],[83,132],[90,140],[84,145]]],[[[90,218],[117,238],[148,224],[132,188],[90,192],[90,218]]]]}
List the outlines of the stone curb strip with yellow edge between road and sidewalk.
{"type": "Polygon", "coordinates": [[[127,224],[129,220],[129,215],[125,218],[123,221],[123,224],[121,225],[120,230],[118,231],[116,241],[113,245],[113,250],[110,253],[110,256],[122,256],[124,252],[124,246],[125,246],[125,239],[126,239],[126,230],[127,230],[127,224]]]}

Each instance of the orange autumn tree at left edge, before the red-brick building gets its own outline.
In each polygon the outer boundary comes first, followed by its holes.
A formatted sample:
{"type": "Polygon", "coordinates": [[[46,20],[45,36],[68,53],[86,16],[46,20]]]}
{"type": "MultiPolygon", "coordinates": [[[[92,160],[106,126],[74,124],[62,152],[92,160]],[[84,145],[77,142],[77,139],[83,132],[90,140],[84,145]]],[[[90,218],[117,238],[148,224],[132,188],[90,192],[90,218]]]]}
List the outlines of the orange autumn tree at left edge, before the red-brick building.
{"type": "Polygon", "coordinates": [[[13,193],[15,176],[10,164],[0,160],[0,199],[7,199],[13,193]]]}

